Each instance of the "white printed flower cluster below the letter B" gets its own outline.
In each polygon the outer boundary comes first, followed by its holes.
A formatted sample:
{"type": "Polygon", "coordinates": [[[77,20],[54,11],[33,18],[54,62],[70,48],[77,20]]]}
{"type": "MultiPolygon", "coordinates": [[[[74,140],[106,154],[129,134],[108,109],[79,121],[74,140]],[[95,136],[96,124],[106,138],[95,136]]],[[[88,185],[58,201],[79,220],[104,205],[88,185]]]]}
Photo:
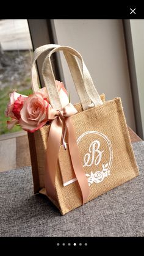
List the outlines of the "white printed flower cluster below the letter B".
{"type": "Polygon", "coordinates": [[[98,170],[97,172],[95,172],[95,174],[93,174],[93,172],[91,172],[90,174],[85,174],[85,176],[88,177],[87,178],[88,186],[93,184],[93,182],[99,183],[103,181],[105,177],[110,175],[110,170],[106,168],[107,166],[108,164],[105,164],[105,165],[103,164],[103,170],[101,172],[99,172],[98,170]]]}

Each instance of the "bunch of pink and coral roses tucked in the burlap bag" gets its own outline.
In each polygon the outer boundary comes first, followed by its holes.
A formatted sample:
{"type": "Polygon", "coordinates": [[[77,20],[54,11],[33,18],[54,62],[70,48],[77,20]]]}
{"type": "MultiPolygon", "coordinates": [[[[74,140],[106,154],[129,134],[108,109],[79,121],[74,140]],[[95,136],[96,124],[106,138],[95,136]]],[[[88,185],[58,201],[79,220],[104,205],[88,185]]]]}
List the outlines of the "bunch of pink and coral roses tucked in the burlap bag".
{"type": "MultiPolygon", "coordinates": [[[[64,107],[69,103],[67,90],[63,82],[57,80],[56,87],[64,107]]],[[[46,87],[29,97],[17,92],[10,93],[10,102],[5,110],[5,116],[12,119],[7,121],[7,128],[13,128],[15,124],[20,123],[23,130],[31,133],[38,130],[48,122],[48,106],[49,97],[46,87]]]]}

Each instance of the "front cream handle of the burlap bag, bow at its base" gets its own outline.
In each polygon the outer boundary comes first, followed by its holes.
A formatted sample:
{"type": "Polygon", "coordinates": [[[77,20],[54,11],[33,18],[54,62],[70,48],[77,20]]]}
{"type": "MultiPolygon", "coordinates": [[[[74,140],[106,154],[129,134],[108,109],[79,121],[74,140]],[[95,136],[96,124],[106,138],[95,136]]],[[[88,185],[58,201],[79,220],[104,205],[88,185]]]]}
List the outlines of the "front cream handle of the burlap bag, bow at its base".
{"type": "MultiPolygon", "coordinates": [[[[82,62],[82,74],[83,74],[84,82],[83,84],[81,84],[81,87],[79,87],[79,91],[81,91],[82,87],[85,87],[85,90],[87,92],[85,101],[88,101],[88,98],[90,98],[94,106],[103,104],[103,101],[99,97],[99,94],[93,84],[90,73],[86,65],[84,64],[84,60],[82,59],[81,54],[79,54],[75,49],[69,46],[58,46],[57,48],[52,49],[52,51],[50,51],[50,53],[46,56],[45,61],[43,62],[43,68],[42,68],[43,79],[45,81],[46,89],[48,90],[49,100],[51,102],[52,108],[62,109],[62,104],[60,103],[59,93],[57,92],[57,89],[56,89],[54,73],[51,65],[51,54],[60,50],[63,50],[63,53],[66,53],[67,51],[68,53],[78,57],[82,62]]],[[[74,66],[74,68],[76,70],[76,66],[74,66]]],[[[87,108],[88,108],[88,105],[87,105],[87,108]]]]}

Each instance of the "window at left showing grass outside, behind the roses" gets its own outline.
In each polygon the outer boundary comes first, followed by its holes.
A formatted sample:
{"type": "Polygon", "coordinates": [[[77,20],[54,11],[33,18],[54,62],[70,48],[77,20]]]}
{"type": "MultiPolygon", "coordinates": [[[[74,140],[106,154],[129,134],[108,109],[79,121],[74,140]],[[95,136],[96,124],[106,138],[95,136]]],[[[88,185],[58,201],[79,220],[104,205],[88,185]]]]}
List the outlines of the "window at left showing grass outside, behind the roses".
{"type": "Polygon", "coordinates": [[[4,111],[9,93],[32,93],[32,42],[27,20],[0,20],[0,38],[0,134],[5,134],[21,130],[18,125],[7,129],[4,111]]]}

